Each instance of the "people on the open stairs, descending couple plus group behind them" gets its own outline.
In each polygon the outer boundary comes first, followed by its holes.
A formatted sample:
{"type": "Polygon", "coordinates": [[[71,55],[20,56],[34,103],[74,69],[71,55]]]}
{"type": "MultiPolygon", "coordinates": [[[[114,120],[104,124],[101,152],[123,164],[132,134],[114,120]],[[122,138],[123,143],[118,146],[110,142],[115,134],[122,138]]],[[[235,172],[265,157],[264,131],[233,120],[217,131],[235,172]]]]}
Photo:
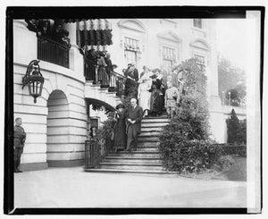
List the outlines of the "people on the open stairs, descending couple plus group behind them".
{"type": "Polygon", "coordinates": [[[183,79],[176,69],[170,74],[163,75],[159,69],[150,71],[146,66],[138,79],[138,71],[130,64],[124,71],[127,77],[125,94],[132,95],[130,108],[125,105],[116,106],[114,116],[108,116],[115,121],[113,127],[113,149],[131,151],[137,150],[138,134],[144,116],[160,115],[163,107],[167,114],[173,117],[180,101],[183,79]],[[178,87],[174,86],[177,85],[178,87]]]}

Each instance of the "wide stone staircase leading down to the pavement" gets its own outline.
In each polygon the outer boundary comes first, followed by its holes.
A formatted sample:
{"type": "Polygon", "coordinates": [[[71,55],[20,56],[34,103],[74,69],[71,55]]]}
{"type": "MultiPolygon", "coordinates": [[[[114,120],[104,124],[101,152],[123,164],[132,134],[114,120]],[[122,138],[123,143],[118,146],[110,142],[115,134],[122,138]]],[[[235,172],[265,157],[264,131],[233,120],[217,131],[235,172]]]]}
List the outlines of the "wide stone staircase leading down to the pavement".
{"type": "Polygon", "coordinates": [[[160,117],[146,117],[141,122],[137,151],[110,153],[100,163],[98,169],[85,169],[86,172],[110,173],[166,173],[156,143],[159,133],[170,120],[167,114],[160,117]]]}

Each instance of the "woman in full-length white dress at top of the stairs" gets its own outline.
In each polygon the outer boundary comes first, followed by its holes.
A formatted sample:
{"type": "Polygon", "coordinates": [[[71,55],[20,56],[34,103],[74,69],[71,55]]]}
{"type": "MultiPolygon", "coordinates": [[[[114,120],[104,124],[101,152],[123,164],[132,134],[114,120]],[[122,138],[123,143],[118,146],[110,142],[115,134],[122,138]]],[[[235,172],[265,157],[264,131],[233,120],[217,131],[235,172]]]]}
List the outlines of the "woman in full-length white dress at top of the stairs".
{"type": "Polygon", "coordinates": [[[148,115],[151,99],[149,89],[151,88],[152,80],[150,79],[149,75],[150,74],[148,72],[144,74],[140,80],[138,80],[138,105],[142,107],[145,116],[148,115]]]}

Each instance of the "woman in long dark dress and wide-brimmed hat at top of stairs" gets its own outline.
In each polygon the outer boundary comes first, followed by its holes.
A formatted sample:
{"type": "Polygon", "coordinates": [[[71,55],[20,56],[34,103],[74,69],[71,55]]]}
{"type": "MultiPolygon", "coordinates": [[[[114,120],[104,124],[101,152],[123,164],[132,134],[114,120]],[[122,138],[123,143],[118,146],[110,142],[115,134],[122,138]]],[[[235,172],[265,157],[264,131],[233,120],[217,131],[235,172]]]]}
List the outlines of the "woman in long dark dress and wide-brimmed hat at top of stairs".
{"type": "Polygon", "coordinates": [[[157,79],[157,75],[152,75],[150,77],[152,81],[152,86],[150,88],[151,94],[151,105],[150,105],[150,112],[152,115],[161,115],[162,114],[162,98],[161,98],[161,80],[157,79]]]}

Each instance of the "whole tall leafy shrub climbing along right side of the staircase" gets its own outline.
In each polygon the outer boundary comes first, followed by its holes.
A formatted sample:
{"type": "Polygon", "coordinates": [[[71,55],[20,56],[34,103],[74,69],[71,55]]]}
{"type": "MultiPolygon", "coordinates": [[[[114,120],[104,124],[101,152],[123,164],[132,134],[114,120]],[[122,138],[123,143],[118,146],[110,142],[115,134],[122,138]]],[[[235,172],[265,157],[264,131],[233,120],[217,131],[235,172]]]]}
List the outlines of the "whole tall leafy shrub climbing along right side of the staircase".
{"type": "Polygon", "coordinates": [[[222,148],[208,138],[208,109],[205,97],[206,77],[195,59],[178,66],[184,79],[184,94],[172,122],[163,129],[159,148],[163,167],[179,173],[198,173],[212,168],[222,148]]]}

